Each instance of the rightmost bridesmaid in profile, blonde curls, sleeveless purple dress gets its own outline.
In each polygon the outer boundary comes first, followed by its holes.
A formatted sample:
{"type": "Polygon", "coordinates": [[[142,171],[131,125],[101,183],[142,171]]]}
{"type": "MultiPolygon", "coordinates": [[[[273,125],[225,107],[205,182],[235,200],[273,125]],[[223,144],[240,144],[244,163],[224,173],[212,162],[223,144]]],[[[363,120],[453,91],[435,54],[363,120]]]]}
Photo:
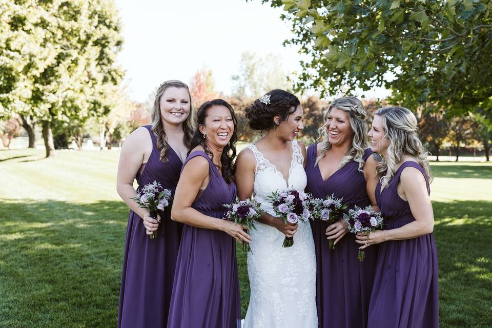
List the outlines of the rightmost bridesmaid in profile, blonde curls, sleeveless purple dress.
{"type": "Polygon", "coordinates": [[[371,149],[384,157],[377,167],[380,182],[372,193],[385,228],[368,237],[357,236],[361,249],[381,243],[368,327],[437,328],[438,264],[429,198],[432,176],[427,151],[417,137],[417,119],[403,107],[381,108],[368,135],[371,149]]]}

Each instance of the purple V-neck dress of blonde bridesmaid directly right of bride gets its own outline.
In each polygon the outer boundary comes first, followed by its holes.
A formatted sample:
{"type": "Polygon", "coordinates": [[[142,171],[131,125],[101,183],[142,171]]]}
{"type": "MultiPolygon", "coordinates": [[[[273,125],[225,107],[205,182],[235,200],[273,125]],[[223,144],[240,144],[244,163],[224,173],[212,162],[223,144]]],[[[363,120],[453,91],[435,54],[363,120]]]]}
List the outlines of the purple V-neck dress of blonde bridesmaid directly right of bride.
{"type": "MultiPolygon", "coordinates": [[[[366,207],[371,201],[366,193],[364,173],[358,171],[359,163],[351,161],[338,169],[325,181],[321,177],[318,165],[316,144],[308,148],[306,175],[308,186],[314,197],[324,198],[334,194],[343,198],[349,205],[366,207]]],[[[364,152],[366,160],[371,150],[364,152]]],[[[330,328],[360,328],[367,326],[367,312],[374,280],[377,247],[365,250],[365,259],[359,262],[357,255],[359,244],[355,236],[347,233],[330,250],[326,239],[324,221],[312,222],[314,245],[316,250],[316,305],[318,307],[318,326],[330,328]]]]}

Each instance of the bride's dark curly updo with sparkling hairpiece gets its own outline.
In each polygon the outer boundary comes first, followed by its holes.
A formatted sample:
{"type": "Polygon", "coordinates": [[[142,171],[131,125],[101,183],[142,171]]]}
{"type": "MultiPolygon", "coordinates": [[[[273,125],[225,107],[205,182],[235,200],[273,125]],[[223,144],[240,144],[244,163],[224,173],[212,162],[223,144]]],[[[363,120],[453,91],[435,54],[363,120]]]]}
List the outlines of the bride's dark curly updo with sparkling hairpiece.
{"type": "Polygon", "coordinates": [[[272,90],[265,94],[265,96],[270,96],[269,101],[263,100],[265,102],[262,102],[260,100],[265,97],[256,99],[251,106],[245,109],[250,128],[253,130],[263,131],[278,127],[301,104],[295,95],[280,89],[272,90]],[[275,116],[280,116],[278,124],[273,120],[275,116]]]}

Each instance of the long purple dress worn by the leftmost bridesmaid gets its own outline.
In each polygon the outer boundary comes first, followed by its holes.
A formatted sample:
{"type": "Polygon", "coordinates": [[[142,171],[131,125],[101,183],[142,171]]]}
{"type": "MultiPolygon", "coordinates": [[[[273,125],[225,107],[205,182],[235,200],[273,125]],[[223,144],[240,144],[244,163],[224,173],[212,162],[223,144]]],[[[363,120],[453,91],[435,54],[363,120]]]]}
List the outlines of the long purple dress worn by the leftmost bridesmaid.
{"type": "MultiPolygon", "coordinates": [[[[157,138],[145,126],[152,138],[152,153],[136,176],[138,186],[154,180],[163,188],[174,190],[179,180],[181,160],[170,147],[168,163],[160,161],[157,138]]],[[[166,327],[169,302],[176,268],[176,258],[181,240],[182,224],[171,220],[171,206],[160,211],[157,238],[146,234],[142,219],[130,211],[125,255],[119,293],[118,327],[166,327]]]]}

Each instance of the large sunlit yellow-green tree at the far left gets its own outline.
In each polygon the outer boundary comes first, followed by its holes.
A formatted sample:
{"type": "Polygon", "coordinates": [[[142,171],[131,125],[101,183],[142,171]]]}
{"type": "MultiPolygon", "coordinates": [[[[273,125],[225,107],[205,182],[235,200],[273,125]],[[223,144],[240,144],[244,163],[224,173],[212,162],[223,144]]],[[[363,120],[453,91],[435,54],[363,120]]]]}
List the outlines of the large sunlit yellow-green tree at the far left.
{"type": "MultiPolygon", "coordinates": [[[[52,122],[84,124],[112,106],[122,78],[115,65],[122,44],[116,8],[106,0],[5,0],[1,8],[2,116],[17,113],[42,125],[48,157],[52,122]]],[[[32,122],[23,120],[28,134],[32,122]]]]}

